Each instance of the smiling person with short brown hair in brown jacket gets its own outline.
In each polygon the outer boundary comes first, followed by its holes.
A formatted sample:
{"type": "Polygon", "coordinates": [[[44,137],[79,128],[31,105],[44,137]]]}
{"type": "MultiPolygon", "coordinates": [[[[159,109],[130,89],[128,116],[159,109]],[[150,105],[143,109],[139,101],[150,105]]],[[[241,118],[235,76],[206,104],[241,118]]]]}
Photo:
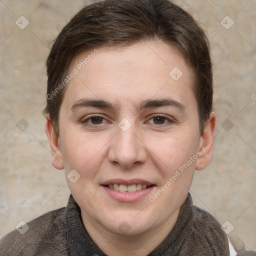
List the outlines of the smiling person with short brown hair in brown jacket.
{"type": "Polygon", "coordinates": [[[169,0],[97,1],[46,66],[45,130],[71,195],[5,235],[1,255],[256,255],[189,194],[216,121],[209,44],[191,15],[169,0]]]}

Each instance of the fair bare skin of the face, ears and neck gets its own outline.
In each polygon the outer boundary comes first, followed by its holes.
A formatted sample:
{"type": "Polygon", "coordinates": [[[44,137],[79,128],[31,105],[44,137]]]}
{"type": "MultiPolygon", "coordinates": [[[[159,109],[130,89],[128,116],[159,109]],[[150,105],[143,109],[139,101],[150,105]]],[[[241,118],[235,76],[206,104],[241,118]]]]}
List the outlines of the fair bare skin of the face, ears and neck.
{"type": "MultiPolygon", "coordinates": [[[[191,89],[192,69],[179,51],[164,42],[138,42],[98,48],[99,52],[65,88],[59,113],[59,135],[46,118],[52,164],[80,178],[70,191],[81,208],[83,224],[108,255],[147,255],[168,235],[192,182],[194,169],[203,169],[212,155],[215,113],[199,132],[196,100],[191,89]],[[174,80],[173,67],[182,71],[174,80]],[[114,108],[73,107],[82,99],[103,99],[114,108]],[[172,99],[183,105],[138,109],[148,99],[172,99]],[[158,114],[163,117],[153,118],[158,114]],[[99,115],[103,119],[89,119],[99,115]],[[126,118],[127,131],[118,127],[126,118]],[[96,121],[97,122],[96,122],[96,121]],[[101,122],[101,123],[100,123],[101,122]],[[153,195],[179,166],[197,151],[201,155],[154,202],[153,195]],[[135,202],[111,198],[100,186],[110,178],[141,178],[155,184],[135,202]],[[123,233],[119,225],[130,227],[123,233]]],[[[88,52],[79,54],[72,70],[88,52]]]]}

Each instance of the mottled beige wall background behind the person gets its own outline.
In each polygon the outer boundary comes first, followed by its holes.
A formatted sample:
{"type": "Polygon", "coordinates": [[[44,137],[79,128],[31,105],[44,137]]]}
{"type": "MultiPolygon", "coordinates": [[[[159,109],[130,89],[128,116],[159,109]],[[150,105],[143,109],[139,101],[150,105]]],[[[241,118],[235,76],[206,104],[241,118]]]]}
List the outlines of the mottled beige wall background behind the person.
{"type": "MultiPolygon", "coordinates": [[[[64,172],[51,166],[41,114],[44,62],[61,27],[88,2],[0,0],[0,236],[66,205],[69,190],[64,172]],[[29,21],[24,29],[15,24],[21,15],[29,21]],[[28,124],[23,131],[21,118],[28,124]]],[[[246,247],[256,249],[256,0],[177,2],[210,39],[218,116],[213,159],[195,173],[190,192],[194,204],[220,223],[228,220],[246,247]],[[227,15],[234,21],[229,29],[227,15]],[[222,123],[226,118],[229,124],[222,123]]]]}

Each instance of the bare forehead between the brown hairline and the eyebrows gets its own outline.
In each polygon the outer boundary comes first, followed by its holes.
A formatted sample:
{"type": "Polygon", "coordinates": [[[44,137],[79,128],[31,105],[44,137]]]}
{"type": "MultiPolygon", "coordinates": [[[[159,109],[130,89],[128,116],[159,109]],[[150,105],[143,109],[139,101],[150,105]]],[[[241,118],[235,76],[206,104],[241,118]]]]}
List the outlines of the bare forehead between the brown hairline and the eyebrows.
{"type": "Polygon", "coordinates": [[[177,48],[164,42],[92,48],[73,59],[73,71],[63,98],[70,104],[82,96],[133,105],[163,96],[195,101],[191,68],[177,48]]]}

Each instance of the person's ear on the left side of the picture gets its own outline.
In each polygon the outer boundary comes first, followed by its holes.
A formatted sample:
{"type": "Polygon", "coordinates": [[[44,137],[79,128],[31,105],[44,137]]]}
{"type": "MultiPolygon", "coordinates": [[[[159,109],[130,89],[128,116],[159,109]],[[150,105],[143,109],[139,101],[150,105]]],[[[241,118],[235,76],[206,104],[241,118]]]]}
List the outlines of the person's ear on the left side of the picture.
{"type": "Polygon", "coordinates": [[[45,132],[48,137],[48,140],[50,142],[50,149],[52,154],[52,165],[59,170],[62,170],[64,168],[63,161],[62,161],[62,155],[58,143],[58,135],[56,134],[52,123],[49,119],[49,115],[46,115],[46,123],[45,123],[45,132]]]}

